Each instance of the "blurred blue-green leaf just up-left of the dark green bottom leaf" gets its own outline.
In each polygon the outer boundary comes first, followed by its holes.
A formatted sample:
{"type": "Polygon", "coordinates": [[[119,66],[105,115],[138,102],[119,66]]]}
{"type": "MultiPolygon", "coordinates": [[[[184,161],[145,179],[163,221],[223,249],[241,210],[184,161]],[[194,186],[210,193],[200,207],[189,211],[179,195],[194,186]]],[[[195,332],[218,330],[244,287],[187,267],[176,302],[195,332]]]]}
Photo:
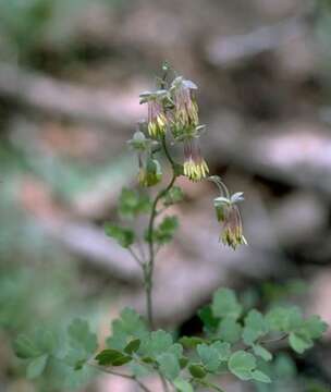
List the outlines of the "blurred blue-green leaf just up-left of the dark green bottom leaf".
{"type": "Polygon", "coordinates": [[[87,355],[94,354],[98,348],[97,335],[90,332],[86,320],[74,319],[68,333],[71,347],[83,350],[87,355]]]}

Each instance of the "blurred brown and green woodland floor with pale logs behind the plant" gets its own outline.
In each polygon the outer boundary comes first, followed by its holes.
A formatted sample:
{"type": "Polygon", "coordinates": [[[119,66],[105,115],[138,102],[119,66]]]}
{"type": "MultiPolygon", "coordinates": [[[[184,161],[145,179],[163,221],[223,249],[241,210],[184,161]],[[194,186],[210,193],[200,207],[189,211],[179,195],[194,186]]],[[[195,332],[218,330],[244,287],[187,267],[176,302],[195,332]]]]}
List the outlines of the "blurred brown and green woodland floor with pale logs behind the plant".
{"type": "MultiPolygon", "coordinates": [[[[1,392],[66,391],[25,379],[17,333],[79,316],[101,341],[124,305],[144,313],[139,270],[102,223],[135,184],[125,140],[163,60],[199,86],[201,149],[245,193],[249,246],[221,246],[214,188],[181,179],[181,228],[156,269],[159,327],[199,333],[194,315],[222,285],[246,306],[295,303],[331,323],[330,34],[329,0],[0,0],[1,392]]],[[[283,352],[272,387],[223,387],[330,392],[330,339],[283,352]]],[[[136,390],[101,376],[81,391],[136,390]]]]}

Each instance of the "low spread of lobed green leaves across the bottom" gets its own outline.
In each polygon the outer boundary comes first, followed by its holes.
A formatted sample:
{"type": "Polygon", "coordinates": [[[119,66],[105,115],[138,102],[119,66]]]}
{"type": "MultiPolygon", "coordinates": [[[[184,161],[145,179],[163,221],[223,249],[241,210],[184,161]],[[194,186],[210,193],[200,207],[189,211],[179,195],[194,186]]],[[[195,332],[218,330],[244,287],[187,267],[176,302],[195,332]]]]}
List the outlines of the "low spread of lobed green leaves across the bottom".
{"type": "Polygon", "coordinates": [[[269,384],[272,380],[270,376],[292,377],[293,366],[286,356],[277,356],[272,363],[273,355],[266,346],[268,336],[274,340],[277,333],[279,339],[283,339],[285,333],[290,346],[303,353],[314,345],[314,340],[319,339],[327,328],[317,316],[304,319],[296,307],[278,307],[266,316],[250,309],[242,317],[242,311],[234,292],[220,289],[211,306],[199,313],[207,323],[207,339],[183,336],[175,342],[169,332],[149,331],[135,310],[125,308],[112,321],[112,334],[107,339],[108,348],[97,354],[97,338],[87,322],[81,319],[74,320],[68,328],[65,355],[59,356],[56,350],[58,339],[49,331],[20,335],[14,350],[19,357],[28,360],[29,378],[40,376],[54,357],[76,373],[86,371],[86,364],[95,358],[101,368],[127,365],[133,377],[140,378],[157,371],[177,391],[194,391],[195,385],[221,391],[208,377],[226,369],[240,380],[257,382],[257,385],[269,384]],[[238,342],[246,348],[236,350],[238,342]]]}

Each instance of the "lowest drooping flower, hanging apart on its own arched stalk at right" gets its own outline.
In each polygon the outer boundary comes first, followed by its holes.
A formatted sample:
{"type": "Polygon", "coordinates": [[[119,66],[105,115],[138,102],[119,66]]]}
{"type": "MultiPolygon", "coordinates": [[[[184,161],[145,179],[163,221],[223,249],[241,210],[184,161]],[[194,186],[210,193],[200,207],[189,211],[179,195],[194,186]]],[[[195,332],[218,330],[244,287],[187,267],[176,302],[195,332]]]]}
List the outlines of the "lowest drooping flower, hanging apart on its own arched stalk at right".
{"type": "Polygon", "coordinates": [[[233,249],[237,245],[247,245],[247,241],[243,235],[243,223],[237,201],[243,200],[243,194],[236,193],[231,198],[217,197],[213,200],[217,219],[222,223],[220,240],[224,245],[231,246],[233,249]]]}

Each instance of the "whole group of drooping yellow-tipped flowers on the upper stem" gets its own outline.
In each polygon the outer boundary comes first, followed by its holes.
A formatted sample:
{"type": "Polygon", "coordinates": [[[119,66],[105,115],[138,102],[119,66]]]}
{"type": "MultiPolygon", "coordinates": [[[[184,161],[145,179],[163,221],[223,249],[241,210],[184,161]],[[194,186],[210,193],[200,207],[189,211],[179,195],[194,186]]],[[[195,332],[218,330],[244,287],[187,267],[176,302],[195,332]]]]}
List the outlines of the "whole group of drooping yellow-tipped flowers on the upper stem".
{"type": "Polygon", "coordinates": [[[140,103],[147,105],[147,121],[139,124],[130,145],[138,155],[138,183],[154,186],[161,181],[162,173],[155,155],[163,149],[176,175],[184,174],[193,182],[209,179],[219,187],[221,195],[213,200],[217,219],[221,223],[220,240],[235,249],[247,244],[237,203],[242,193],[230,196],[226,186],[218,176],[208,176],[209,168],[201,156],[199,139],[205,125],[199,123],[196,101],[197,86],[182,76],[168,82],[160,79],[160,89],[140,94],[140,103]],[[167,139],[183,145],[184,161],[173,161],[167,148],[167,139]],[[166,139],[167,138],[167,139],[166,139]]]}

